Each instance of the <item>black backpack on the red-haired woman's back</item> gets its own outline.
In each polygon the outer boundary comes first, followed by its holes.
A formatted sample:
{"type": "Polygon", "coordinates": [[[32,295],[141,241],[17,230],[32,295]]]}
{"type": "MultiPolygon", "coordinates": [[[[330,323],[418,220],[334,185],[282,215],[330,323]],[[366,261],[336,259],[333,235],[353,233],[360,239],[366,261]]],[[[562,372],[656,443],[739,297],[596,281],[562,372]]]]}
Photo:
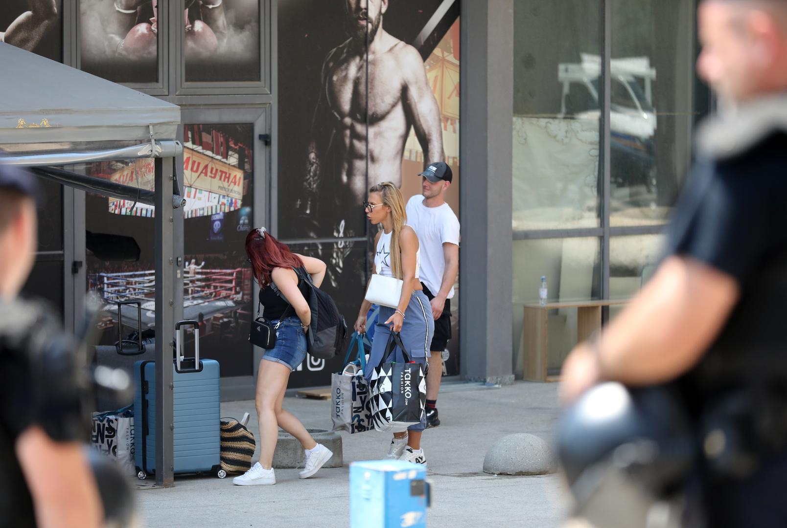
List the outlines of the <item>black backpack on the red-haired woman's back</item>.
{"type": "MultiPolygon", "coordinates": [[[[312,309],[312,324],[306,332],[307,350],[313,358],[331,359],[336,354],[344,351],[345,338],[347,337],[347,323],[331,299],[331,295],[317,288],[312,282],[312,276],[304,268],[293,268],[301,281],[309,284],[309,296],[306,301],[312,309]]],[[[271,282],[271,288],[276,295],[285,299],[279,288],[271,282]]]]}

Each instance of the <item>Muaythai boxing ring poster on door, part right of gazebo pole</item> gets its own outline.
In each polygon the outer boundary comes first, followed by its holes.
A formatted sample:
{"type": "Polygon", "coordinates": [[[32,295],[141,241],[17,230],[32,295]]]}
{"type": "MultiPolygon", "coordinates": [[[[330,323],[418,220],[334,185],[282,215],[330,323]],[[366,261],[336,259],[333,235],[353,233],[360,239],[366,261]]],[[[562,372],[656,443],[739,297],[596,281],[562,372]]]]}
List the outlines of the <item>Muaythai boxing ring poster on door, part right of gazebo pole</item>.
{"type": "Polygon", "coordinates": [[[249,376],[256,307],[244,244],[252,228],[253,125],[184,130],[183,182],[191,204],[184,211],[184,314],[201,321],[201,354],[220,362],[221,376],[249,376]]]}

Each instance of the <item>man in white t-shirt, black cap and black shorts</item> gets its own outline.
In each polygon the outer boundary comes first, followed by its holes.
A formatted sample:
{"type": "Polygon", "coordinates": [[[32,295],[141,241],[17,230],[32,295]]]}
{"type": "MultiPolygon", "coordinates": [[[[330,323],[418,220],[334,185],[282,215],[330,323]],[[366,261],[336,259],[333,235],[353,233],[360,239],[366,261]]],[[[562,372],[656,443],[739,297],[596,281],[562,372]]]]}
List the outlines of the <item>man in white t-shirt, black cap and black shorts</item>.
{"type": "Polygon", "coordinates": [[[440,425],[437,399],[442,378],[442,352],[451,339],[451,298],[459,273],[459,219],[445,203],[453,180],[451,167],[430,163],[419,176],[421,195],[407,203],[407,223],[415,229],[421,249],[420,279],[434,315],[434,337],[427,374],[427,427],[440,425]]]}

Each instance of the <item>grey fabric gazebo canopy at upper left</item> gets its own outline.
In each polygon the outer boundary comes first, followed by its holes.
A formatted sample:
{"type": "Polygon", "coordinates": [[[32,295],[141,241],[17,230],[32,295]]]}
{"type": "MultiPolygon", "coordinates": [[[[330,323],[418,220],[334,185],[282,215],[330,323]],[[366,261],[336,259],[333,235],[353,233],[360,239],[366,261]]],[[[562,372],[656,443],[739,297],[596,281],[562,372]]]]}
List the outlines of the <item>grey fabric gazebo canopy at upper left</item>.
{"type": "Polygon", "coordinates": [[[2,42],[0,64],[0,163],[62,165],[182,151],[177,105],[2,42]]]}

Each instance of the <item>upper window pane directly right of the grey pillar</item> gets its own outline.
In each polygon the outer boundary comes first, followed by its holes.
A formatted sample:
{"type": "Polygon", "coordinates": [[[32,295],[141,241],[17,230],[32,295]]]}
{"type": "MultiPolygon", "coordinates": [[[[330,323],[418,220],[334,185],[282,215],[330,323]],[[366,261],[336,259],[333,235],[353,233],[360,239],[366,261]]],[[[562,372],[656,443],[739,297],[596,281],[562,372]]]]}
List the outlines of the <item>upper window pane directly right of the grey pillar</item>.
{"type": "Polygon", "coordinates": [[[599,0],[514,2],[515,232],[600,225],[602,12],[599,0]]]}

